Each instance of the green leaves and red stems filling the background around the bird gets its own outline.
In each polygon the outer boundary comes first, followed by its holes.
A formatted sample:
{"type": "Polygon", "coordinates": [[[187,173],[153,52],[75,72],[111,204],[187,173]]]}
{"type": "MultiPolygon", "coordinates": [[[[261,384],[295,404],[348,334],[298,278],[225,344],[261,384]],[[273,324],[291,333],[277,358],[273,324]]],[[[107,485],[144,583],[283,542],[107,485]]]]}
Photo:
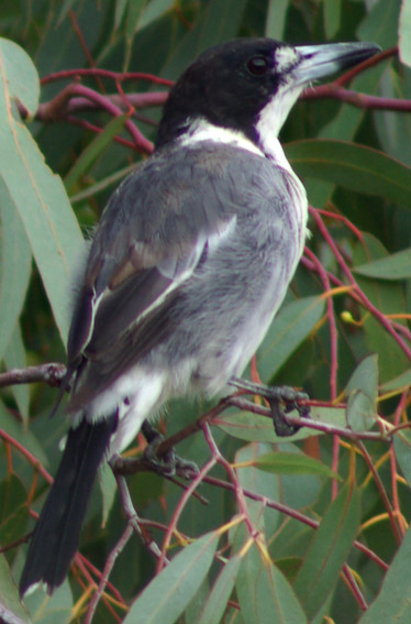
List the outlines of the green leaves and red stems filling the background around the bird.
{"type": "MultiPolygon", "coordinates": [[[[0,380],[0,618],[410,621],[410,12],[407,0],[2,1],[0,358],[43,382],[0,380]],[[167,91],[153,76],[173,80],[208,46],[249,35],[388,51],[349,85],[311,90],[281,133],[312,237],[249,374],[308,391],[316,429],[278,442],[264,405],[244,397],[211,429],[186,429],[178,452],[204,467],[199,497],[152,473],[127,479],[151,549],[105,471],[69,580],[22,605],[13,579],[66,429],[48,418],[56,390],[38,366],[64,362],[82,234],[149,151],[167,91]],[[90,67],[116,80],[75,78],[90,67]]],[[[162,428],[171,436],[208,409],[176,402],[162,428]]]]}

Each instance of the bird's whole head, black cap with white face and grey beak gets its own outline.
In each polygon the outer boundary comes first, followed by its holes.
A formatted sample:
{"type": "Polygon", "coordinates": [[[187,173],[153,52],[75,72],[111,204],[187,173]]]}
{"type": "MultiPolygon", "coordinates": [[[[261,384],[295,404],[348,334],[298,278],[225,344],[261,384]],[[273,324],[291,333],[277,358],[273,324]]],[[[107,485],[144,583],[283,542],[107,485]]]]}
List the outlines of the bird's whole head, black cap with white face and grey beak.
{"type": "Polygon", "coordinates": [[[156,146],[178,138],[197,120],[240,131],[258,143],[257,125],[268,107],[277,136],[308,83],[355,65],[378,50],[363,43],[292,47],[270,39],[240,39],[212,47],[171,89],[156,146]]]}

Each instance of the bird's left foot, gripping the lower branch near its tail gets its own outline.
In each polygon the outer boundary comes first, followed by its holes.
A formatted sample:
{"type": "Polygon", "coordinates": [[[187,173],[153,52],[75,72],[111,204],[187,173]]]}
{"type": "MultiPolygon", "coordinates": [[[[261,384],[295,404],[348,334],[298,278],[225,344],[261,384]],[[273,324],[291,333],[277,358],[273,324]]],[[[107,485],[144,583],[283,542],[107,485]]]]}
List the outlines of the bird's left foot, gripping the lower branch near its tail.
{"type": "Polygon", "coordinates": [[[177,474],[177,477],[182,477],[184,479],[192,479],[198,474],[199,469],[197,464],[176,455],[173,447],[158,457],[157,451],[164,441],[164,436],[148,420],[144,420],[142,433],[148,442],[144,451],[144,461],[153,468],[154,472],[163,477],[177,474]]]}

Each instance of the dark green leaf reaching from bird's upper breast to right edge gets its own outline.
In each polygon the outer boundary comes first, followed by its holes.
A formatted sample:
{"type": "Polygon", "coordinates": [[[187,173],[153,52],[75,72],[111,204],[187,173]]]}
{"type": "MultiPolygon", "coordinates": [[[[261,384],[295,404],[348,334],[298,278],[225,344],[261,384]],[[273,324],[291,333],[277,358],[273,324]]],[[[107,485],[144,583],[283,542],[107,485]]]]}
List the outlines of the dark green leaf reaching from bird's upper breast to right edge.
{"type": "Polygon", "coordinates": [[[344,141],[307,140],[288,143],[286,154],[302,178],[332,182],[411,208],[411,168],[382,152],[344,141]]]}

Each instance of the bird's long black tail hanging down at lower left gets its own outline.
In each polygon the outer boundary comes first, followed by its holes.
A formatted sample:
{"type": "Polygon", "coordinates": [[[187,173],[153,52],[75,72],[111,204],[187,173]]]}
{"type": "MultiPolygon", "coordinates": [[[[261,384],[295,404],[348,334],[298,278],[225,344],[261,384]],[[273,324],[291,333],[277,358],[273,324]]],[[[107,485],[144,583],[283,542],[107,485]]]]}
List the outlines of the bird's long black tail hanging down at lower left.
{"type": "Polygon", "coordinates": [[[63,583],[76,554],[87,503],[98,468],[115,430],[118,416],[97,424],[84,419],[70,429],[52,490],[43,506],[20,580],[20,594],[44,582],[48,593],[63,583]]]}

